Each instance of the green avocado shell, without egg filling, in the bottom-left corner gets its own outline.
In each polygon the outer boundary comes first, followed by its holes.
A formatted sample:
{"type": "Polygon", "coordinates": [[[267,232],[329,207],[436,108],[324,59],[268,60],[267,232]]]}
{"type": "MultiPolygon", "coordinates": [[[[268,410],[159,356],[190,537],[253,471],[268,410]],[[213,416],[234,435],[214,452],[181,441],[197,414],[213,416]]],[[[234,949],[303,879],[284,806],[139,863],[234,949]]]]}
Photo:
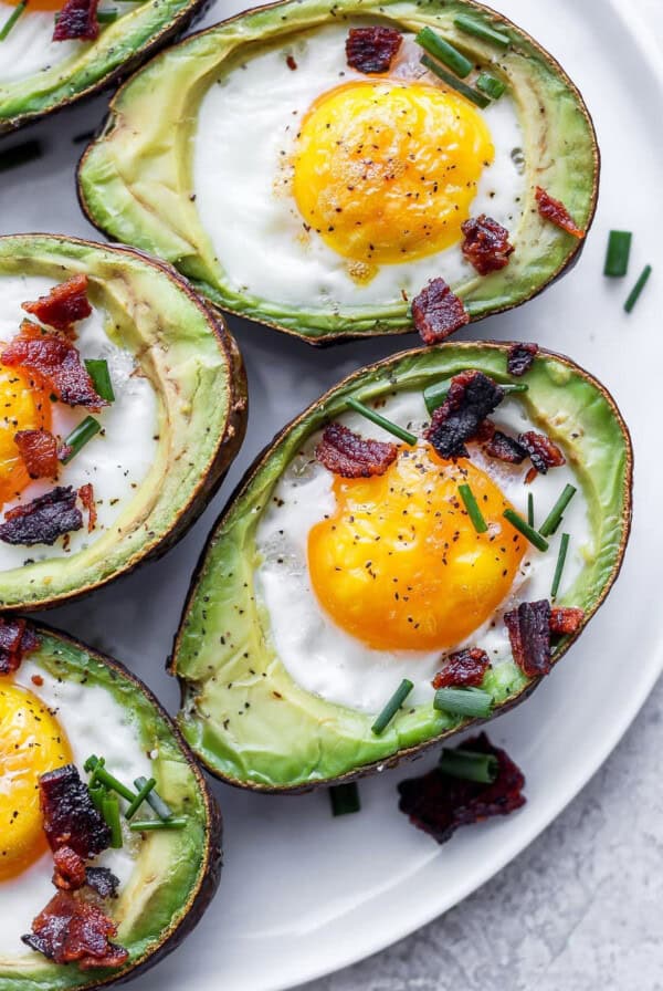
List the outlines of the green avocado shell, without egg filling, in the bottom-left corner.
{"type": "MultiPolygon", "coordinates": [[[[144,834],[137,873],[125,894],[120,890],[104,909],[118,926],[116,941],[129,952],[124,967],[85,972],[76,964],[56,964],[39,953],[25,953],[23,947],[15,959],[0,955],[0,987],[12,991],[105,987],[157,963],[200,920],[221,876],[221,813],[177,727],[146,685],[85,644],[41,624],[31,626],[41,644],[30,661],[63,681],[101,688],[126,709],[145,751],[158,751],[151,772],[159,795],[173,815],[188,821],[183,830],[144,834]]],[[[39,693],[39,688],[34,691],[39,693]]],[[[35,905],[34,915],[43,907],[35,905]]]]}

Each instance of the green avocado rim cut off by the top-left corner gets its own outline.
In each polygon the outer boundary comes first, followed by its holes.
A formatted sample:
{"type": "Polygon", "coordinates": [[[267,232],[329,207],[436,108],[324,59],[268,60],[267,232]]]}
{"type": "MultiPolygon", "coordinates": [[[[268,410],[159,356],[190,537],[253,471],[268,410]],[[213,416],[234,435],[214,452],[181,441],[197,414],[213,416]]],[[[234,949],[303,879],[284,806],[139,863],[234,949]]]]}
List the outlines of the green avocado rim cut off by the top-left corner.
{"type": "Polygon", "coordinates": [[[116,21],[102,25],[96,41],[50,69],[11,83],[2,83],[0,72],[0,134],[93,96],[133,72],[183,31],[206,2],[144,0],[120,9],[116,21]]]}

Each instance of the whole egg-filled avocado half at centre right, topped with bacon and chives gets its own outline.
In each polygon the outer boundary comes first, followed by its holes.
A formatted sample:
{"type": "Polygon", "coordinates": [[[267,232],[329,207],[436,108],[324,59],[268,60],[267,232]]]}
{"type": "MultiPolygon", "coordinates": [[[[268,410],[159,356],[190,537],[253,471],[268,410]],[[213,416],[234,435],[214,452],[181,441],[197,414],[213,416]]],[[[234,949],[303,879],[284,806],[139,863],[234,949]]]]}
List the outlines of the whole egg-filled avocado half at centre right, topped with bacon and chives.
{"type": "Polygon", "coordinates": [[[213,774],[295,792],[415,755],[478,721],[459,713],[459,691],[481,718],[524,700],[601,605],[630,529],[628,429],[569,358],[539,351],[514,377],[508,354],[498,343],[446,344],[379,362],[257,458],[203,551],[171,661],[180,728],[213,774]],[[431,419],[451,379],[453,400],[431,419]],[[481,408],[482,396],[495,398],[481,408]],[[480,404],[470,457],[456,447],[455,460],[438,458],[446,415],[456,440],[472,427],[467,397],[480,404]],[[394,453],[394,438],[355,400],[414,447],[394,453]],[[522,603],[533,604],[523,616],[522,603]],[[509,614],[529,624],[515,632],[518,651],[509,614]],[[413,690],[376,732],[401,679],[413,690]]]}

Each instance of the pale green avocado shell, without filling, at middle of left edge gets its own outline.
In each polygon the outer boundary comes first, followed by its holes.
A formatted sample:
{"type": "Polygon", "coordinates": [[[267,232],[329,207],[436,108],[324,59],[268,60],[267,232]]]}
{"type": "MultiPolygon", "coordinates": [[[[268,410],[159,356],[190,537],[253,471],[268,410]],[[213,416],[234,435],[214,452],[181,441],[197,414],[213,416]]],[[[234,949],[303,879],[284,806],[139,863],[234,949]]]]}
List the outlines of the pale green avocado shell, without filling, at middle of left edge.
{"type": "Polygon", "coordinates": [[[113,338],[135,355],[155,389],[156,457],[117,521],[118,533],[106,531],[70,557],[1,572],[3,609],[60,604],[164,554],[207,507],[244,436],[240,352],[175,270],[128,248],[52,234],[0,238],[0,296],[3,275],[62,282],[80,273],[88,277],[93,306],[107,312],[113,338]]]}

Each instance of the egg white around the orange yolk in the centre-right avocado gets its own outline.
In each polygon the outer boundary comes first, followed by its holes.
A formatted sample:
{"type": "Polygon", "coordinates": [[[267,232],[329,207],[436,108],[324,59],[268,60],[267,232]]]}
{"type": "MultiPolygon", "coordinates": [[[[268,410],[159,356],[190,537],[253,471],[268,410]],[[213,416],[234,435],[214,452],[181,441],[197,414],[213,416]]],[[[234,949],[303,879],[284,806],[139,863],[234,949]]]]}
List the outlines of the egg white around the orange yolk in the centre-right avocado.
{"type": "MultiPolygon", "coordinates": [[[[415,434],[421,432],[429,419],[422,394],[414,392],[390,396],[380,411],[415,434]]],[[[501,404],[492,419],[511,435],[538,429],[523,404],[513,396],[501,404]]],[[[359,414],[344,414],[339,420],[364,437],[393,440],[391,435],[359,414]]],[[[493,667],[507,660],[511,646],[502,617],[519,602],[549,598],[560,533],[550,538],[550,549],[545,554],[528,545],[507,599],[491,620],[463,643],[444,651],[372,649],[333,622],[311,586],[308,533],[335,508],[334,476],[314,455],[320,436],[316,432],[309,437],[288,465],[256,531],[255,586],[267,616],[266,635],[294,681],[327,701],[373,713],[382,708],[402,678],[414,684],[410,696],[413,705],[430,701],[434,693],[431,679],[440,670],[442,657],[452,649],[481,647],[488,654],[493,667]]],[[[547,474],[537,474],[530,486],[525,486],[523,479],[528,461],[519,467],[506,465],[482,457],[476,447],[472,450],[472,460],[491,476],[525,518],[527,493],[532,492],[539,522],[567,482],[578,488],[565,512],[564,530],[571,535],[571,541],[560,587],[562,594],[577,578],[585,559],[593,553],[588,505],[572,469],[567,463],[547,474]]]]}

